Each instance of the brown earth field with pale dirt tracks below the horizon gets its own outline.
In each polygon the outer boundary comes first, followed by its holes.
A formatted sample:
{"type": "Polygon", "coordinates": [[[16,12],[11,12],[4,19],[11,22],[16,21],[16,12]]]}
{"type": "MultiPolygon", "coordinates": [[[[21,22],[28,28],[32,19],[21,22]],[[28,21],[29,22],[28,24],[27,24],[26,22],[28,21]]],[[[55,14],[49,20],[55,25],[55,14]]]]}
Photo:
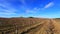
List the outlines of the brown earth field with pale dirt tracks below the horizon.
{"type": "Polygon", "coordinates": [[[0,18],[0,34],[60,34],[60,20],[0,18]]]}

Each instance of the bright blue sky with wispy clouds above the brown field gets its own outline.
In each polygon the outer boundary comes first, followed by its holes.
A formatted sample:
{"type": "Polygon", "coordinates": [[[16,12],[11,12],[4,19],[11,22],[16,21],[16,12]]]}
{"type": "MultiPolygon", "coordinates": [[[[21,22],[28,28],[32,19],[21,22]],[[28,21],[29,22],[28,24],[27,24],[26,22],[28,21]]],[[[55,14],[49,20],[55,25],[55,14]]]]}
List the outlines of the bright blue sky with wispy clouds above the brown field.
{"type": "Polygon", "coordinates": [[[60,18],[60,0],[0,0],[0,17],[60,18]]]}

